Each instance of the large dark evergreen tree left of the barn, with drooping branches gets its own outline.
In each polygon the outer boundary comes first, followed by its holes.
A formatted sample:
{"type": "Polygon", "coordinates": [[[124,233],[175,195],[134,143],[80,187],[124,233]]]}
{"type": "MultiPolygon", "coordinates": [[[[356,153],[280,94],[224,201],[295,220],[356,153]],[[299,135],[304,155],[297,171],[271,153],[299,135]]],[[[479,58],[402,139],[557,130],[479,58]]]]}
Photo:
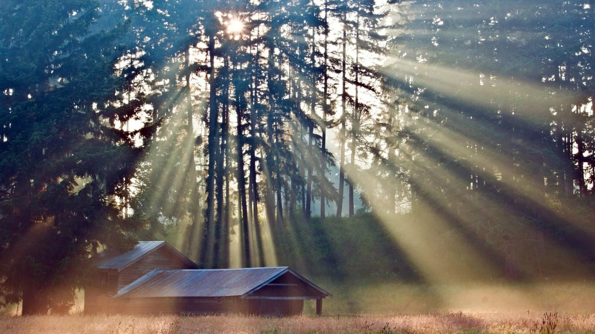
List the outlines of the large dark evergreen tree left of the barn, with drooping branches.
{"type": "Polygon", "coordinates": [[[151,131],[118,126],[142,115],[142,93],[126,101],[142,71],[119,42],[129,22],[94,30],[99,8],[0,5],[0,280],[23,314],[67,311],[89,256],[131,247],[145,224],[123,199],[151,131]]]}

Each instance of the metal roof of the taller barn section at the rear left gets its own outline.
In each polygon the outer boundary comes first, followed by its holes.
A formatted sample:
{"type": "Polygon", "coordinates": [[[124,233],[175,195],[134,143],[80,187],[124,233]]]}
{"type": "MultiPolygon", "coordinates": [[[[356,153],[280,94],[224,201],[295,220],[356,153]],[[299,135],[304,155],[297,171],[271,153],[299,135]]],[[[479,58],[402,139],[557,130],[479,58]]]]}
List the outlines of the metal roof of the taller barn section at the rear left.
{"type": "Polygon", "coordinates": [[[198,265],[196,265],[196,263],[188,259],[186,256],[184,256],[184,254],[180,253],[178,250],[176,250],[176,248],[165,241],[139,241],[139,243],[134,246],[132,250],[123,254],[115,250],[104,250],[93,257],[92,261],[93,265],[95,265],[98,269],[122,270],[146,254],[149,254],[152,251],[164,246],[170,248],[170,250],[172,250],[174,253],[179,254],[179,256],[182,257],[187,263],[195,266],[198,269],[200,268],[198,265]]]}

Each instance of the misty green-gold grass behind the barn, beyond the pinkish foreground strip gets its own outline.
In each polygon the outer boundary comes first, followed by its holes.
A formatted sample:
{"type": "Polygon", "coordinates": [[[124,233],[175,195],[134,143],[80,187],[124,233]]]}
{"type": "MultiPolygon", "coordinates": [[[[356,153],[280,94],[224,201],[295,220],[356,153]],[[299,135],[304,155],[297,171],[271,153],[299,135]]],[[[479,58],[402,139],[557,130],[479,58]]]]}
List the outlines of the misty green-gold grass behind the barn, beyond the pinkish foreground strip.
{"type": "MultiPolygon", "coordinates": [[[[337,284],[317,279],[333,294],[322,303],[324,316],[392,314],[595,314],[595,281],[491,284],[468,283],[419,285],[399,282],[337,284]]],[[[72,314],[84,309],[83,292],[72,314]]],[[[19,314],[20,314],[20,308],[19,314]]],[[[17,305],[0,309],[1,314],[17,313],[17,305]]],[[[305,301],[303,314],[314,316],[314,301],[305,301]]],[[[0,332],[1,334],[1,332],[0,332]]]]}

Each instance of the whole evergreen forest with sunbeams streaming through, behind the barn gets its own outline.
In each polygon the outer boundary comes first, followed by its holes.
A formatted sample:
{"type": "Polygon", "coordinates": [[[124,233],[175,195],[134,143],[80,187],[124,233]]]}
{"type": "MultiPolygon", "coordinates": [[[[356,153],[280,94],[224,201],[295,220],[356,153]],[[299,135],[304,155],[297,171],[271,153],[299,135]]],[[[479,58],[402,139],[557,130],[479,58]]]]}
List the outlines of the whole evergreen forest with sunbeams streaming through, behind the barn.
{"type": "Polygon", "coordinates": [[[595,0],[2,0],[0,306],[68,313],[140,240],[338,295],[593,283],[594,30],[595,0]]]}

